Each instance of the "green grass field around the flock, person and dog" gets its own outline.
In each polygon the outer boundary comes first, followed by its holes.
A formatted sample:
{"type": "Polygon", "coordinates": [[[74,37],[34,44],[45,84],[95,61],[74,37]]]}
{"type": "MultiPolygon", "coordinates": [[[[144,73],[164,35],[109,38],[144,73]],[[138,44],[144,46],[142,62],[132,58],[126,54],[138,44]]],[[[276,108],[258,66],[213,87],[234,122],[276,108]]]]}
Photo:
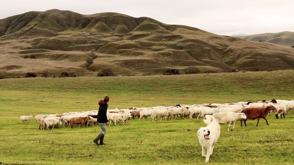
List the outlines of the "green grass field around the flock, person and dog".
{"type": "MultiPolygon", "coordinates": [[[[199,119],[152,122],[130,119],[108,127],[104,142],[92,141],[94,127],[59,126],[39,130],[39,124],[19,122],[21,115],[97,110],[104,95],[109,109],[293,100],[294,70],[213,73],[175,76],[20,78],[0,80],[0,161],[3,164],[205,164],[197,130],[199,119]]],[[[293,164],[293,110],[285,119],[267,116],[236,122],[221,134],[209,164],[293,164]]]]}

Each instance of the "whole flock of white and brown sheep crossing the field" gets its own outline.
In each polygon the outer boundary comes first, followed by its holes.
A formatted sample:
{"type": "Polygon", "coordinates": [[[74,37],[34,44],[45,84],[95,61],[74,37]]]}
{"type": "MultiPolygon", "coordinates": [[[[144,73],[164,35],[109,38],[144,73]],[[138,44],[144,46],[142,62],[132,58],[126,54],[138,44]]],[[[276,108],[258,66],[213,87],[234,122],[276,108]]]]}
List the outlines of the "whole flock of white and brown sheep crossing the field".
{"type": "MultiPolygon", "coordinates": [[[[129,118],[138,117],[139,120],[145,120],[150,116],[152,122],[154,119],[160,117],[160,121],[164,118],[166,121],[168,119],[173,119],[178,116],[180,119],[189,117],[201,119],[205,115],[212,115],[219,124],[228,124],[228,131],[230,130],[230,124],[233,124],[231,130],[235,128],[235,121],[241,119],[246,126],[247,119],[265,119],[266,115],[271,112],[276,112],[276,117],[282,117],[287,113],[289,115],[289,110],[294,109],[294,100],[270,100],[270,101],[260,101],[260,102],[237,102],[237,103],[225,103],[225,104],[194,104],[194,105],[176,105],[176,106],[157,106],[157,107],[129,107],[127,109],[111,109],[108,110],[107,118],[109,121],[109,126],[117,124],[118,122],[125,123],[129,118]]],[[[39,129],[54,129],[58,125],[68,125],[73,128],[74,125],[79,125],[82,127],[85,125],[94,125],[96,123],[98,110],[83,111],[83,112],[66,112],[63,114],[50,114],[50,115],[36,115],[35,120],[39,122],[39,129]]],[[[285,117],[285,116],[284,116],[285,117]]],[[[29,122],[33,118],[33,115],[21,116],[20,122],[29,122]]],[[[258,126],[258,123],[256,124],[258,126]]]]}

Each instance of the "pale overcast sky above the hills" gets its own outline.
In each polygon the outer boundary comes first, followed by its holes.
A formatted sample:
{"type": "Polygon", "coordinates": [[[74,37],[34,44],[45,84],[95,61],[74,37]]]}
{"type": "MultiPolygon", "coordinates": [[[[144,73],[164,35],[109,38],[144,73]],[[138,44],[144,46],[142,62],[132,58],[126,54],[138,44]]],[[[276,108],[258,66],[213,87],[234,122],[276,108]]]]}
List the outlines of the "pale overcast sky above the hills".
{"type": "Polygon", "coordinates": [[[149,17],[226,36],[294,31],[294,0],[0,0],[0,19],[50,9],[149,17]]]}

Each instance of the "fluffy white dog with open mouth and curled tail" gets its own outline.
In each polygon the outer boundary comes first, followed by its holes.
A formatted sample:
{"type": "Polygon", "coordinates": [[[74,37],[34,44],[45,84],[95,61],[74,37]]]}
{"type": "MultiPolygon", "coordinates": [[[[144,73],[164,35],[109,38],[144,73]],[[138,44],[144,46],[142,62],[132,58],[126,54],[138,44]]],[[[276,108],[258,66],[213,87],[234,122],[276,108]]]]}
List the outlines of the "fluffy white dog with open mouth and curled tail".
{"type": "Polygon", "coordinates": [[[205,162],[208,162],[209,156],[213,153],[214,145],[220,136],[220,125],[211,115],[206,115],[205,118],[203,121],[207,126],[201,127],[197,134],[202,146],[202,156],[206,157],[205,162]]]}

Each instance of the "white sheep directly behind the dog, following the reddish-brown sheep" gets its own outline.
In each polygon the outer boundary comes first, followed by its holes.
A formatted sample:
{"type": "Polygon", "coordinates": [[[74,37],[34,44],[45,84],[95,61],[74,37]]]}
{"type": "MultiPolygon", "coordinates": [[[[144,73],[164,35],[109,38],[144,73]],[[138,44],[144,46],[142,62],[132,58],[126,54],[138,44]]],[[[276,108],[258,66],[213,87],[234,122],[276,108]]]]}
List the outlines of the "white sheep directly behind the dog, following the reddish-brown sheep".
{"type": "Polygon", "coordinates": [[[235,113],[235,112],[217,112],[212,115],[219,124],[228,124],[228,132],[230,131],[230,126],[233,124],[231,131],[235,129],[235,121],[238,119],[246,119],[245,113],[235,113]]]}

